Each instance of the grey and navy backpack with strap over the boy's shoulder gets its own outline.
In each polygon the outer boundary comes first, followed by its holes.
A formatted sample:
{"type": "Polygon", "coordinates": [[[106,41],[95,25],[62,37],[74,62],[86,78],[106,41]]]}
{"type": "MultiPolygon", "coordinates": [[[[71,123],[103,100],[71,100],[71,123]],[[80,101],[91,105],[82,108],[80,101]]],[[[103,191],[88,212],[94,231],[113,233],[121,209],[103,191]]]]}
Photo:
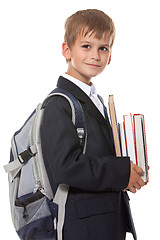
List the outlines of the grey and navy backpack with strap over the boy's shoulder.
{"type": "Polygon", "coordinates": [[[56,88],[13,135],[10,162],[4,166],[9,178],[12,221],[21,240],[62,240],[69,186],[59,184],[53,195],[40,136],[45,106],[57,95],[69,102],[83,154],[86,149],[87,134],[81,104],[68,91],[56,88]]]}

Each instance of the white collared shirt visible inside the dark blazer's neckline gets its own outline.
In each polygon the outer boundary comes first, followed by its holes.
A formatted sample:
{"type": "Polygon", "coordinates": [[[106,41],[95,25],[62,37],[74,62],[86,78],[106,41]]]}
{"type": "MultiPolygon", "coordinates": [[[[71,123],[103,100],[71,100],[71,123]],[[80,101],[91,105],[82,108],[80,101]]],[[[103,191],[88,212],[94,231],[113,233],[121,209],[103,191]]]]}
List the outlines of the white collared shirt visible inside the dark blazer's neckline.
{"type": "Polygon", "coordinates": [[[84,91],[88,97],[92,100],[92,102],[96,105],[96,107],[98,108],[98,110],[101,112],[101,114],[103,115],[103,117],[105,117],[104,114],[104,108],[103,108],[103,104],[101,103],[101,101],[99,100],[98,96],[97,96],[97,91],[95,86],[92,85],[89,86],[86,83],[68,75],[68,74],[62,74],[62,76],[66,79],[68,79],[69,81],[73,82],[75,85],[77,85],[82,91],[84,91]]]}

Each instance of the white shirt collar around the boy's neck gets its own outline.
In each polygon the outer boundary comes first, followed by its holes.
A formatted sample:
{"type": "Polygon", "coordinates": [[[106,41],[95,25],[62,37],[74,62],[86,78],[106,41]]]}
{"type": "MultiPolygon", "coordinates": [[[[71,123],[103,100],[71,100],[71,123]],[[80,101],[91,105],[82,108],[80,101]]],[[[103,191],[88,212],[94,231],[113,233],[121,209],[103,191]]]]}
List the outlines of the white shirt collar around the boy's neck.
{"type": "Polygon", "coordinates": [[[84,82],[81,82],[80,80],[68,75],[67,73],[65,74],[62,74],[62,76],[64,78],[67,78],[69,81],[73,82],[75,85],[77,85],[80,89],[82,89],[89,97],[91,96],[91,94],[96,94],[97,95],[97,91],[96,91],[96,88],[95,86],[92,85],[89,86],[87,85],[86,83],[84,82]]]}

